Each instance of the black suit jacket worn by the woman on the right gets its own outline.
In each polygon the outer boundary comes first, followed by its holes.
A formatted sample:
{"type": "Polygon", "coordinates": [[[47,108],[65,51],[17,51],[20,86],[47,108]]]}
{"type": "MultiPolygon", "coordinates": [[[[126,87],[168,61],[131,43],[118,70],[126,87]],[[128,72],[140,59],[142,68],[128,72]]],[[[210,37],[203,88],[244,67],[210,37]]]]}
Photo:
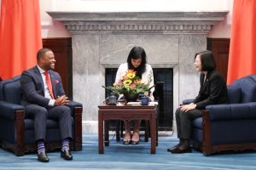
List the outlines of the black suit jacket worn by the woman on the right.
{"type": "Polygon", "coordinates": [[[228,91],[224,78],[218,71],[208,71],[207,78],[201,73],[201,88],[194,102],[196,109],[205,109],[207,105],[229,103],[228,91]]]}

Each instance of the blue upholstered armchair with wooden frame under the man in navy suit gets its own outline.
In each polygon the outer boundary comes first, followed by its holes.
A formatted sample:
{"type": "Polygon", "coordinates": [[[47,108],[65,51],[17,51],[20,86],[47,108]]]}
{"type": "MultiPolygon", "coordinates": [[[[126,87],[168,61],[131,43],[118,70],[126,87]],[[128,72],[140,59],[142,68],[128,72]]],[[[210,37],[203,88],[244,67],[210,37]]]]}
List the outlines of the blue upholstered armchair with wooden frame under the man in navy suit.
{"type": "MultiPolygon", "coordinates": [[[[3,149],[22,156],[25,152],[36,151],[33,120],[26,117],[20,105],[20,76],[0,82],[0,145],[3,149]]],[[[68,106],[73,114],[72,150],[82,150],[82,109],[77,102],[70,101],[68,106]]],[[[58,122],[47,121],[46,150],[61,148],[58,122]]]]}

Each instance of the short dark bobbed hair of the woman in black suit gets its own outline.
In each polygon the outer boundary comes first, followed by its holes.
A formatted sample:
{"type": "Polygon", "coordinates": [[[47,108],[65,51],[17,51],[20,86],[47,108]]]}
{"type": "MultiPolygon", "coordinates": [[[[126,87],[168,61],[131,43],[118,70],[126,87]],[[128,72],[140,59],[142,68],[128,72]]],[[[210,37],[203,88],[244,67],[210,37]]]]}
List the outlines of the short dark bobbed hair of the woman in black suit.
{"type": "Polygon", "coordinates": [[[213,71],[216,68],[214,56],[211,51],[201,51],[195,54],[200,55],[201,58],[201,71],[213,71]]]}

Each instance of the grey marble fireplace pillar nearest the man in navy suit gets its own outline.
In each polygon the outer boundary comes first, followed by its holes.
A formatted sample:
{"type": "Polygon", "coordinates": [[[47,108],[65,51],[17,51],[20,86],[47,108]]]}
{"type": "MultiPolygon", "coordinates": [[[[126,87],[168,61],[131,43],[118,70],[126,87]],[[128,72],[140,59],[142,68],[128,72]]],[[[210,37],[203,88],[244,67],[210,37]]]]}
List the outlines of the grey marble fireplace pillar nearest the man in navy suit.
{"type": "Polygon", "coordinates": [[[97,105],[104,96],[99,35],[73,35],[73,99],[83,104],[83,132],[97,132],[97,105]],[[89,126],[90,125],[90,126],[89,126]]]}

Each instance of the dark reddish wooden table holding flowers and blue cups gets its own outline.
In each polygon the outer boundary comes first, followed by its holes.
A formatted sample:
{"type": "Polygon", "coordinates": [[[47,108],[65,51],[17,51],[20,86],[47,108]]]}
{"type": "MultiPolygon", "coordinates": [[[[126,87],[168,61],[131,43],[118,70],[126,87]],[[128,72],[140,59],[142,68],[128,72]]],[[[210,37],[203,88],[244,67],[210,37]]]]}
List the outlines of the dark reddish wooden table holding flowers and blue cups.
{"type": "MultiPolygon", "coordinates": [[[[99,105],[98,108],[99,154],[104,153],[103,124],[108,120],[148,120],[151,132],[150,153],[155,154],[157,105],[99,105]]],[[[106,135],[105,142],[109,144],[106,135]]]]}

